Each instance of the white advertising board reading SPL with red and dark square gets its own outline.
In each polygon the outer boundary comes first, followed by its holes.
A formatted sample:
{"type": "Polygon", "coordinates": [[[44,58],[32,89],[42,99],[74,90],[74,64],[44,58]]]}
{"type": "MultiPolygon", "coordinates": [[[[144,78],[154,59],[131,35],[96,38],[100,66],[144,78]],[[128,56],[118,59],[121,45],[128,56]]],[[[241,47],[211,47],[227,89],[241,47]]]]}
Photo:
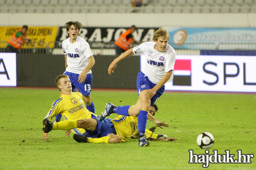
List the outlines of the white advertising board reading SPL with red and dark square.
{"type": "MultiPolygon", "coordinates": [[[[141,56],[141,70],[145,56],[141,56]]],[[[256,57],[177,55],[166,90],[256,92],[256,57]]]]}

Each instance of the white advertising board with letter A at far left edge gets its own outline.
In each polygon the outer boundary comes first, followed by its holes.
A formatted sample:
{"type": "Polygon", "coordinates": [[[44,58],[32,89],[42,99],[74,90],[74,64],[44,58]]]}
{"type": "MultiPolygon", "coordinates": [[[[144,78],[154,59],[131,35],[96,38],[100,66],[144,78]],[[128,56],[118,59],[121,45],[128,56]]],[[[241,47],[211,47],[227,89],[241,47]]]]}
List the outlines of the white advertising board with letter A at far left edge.
{"type": "Polygon", "coordinates": [[[0,53],[0,86],[16,86],[16,54],[0,53]]]}

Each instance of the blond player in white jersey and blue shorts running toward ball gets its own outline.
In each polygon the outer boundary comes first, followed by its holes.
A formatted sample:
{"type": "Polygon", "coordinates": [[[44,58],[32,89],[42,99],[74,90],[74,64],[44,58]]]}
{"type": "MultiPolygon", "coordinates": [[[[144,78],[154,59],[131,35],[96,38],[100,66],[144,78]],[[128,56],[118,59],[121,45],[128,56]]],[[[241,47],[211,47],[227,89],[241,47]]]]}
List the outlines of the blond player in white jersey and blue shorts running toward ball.
{"type": "MultiPolygon", "coordinates": [[[[115,107],[108,103],[105,111],[100,116],[100,121],[111,113],[124,116],[138,117],[139,146],[148,146],[149,141],[145,139],[144,133],[147,123],[149,107],[163,94],[165,83],[173,79],[175,64],[175,50],[168,44],[169,33],[163,28],[155,31],[153,42],[143,42],[137,47],[131,48],[113,60],[108,68],[108,74],[112,74],[118,62],[133,54],[144,54],[145,66],[137,77],[137,91],[139,100],[134,107],[130,105],[115,107]]],[[[143,61],[142,61],[143,62],[143,61]]]]}

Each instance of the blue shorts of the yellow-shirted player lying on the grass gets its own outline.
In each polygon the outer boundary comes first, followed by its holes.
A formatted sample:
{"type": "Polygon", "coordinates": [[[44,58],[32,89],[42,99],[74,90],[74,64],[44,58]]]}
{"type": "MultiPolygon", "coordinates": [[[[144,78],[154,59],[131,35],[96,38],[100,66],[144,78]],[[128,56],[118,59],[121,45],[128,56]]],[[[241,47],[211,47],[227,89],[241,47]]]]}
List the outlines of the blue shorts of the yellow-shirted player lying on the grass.
{"type": "Polygon", "coordinates": [[[99,122],[99,116],[98,116],[96,120],[97,120],[97,126],[95,130],[93,131],[87,130],[88,137],[101,138],[101,137],[107,136],[108,134],[116,135],[116,129],[110,119],[106,118],[102,122],[99,122]]]}

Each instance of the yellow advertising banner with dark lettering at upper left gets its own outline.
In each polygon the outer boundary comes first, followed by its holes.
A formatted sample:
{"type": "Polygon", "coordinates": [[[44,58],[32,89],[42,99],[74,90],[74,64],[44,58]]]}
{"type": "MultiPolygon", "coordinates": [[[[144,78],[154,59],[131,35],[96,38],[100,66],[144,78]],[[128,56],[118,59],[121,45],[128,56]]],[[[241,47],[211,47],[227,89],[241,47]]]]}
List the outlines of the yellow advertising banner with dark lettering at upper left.
{"type": "MultiPolygon", "coordinates": [[[[21,27],[0,27],[0,41],[8,42],[15,31],[21,27]]],[[[31,42],[24,43],[22,48],[45,48],[49,42],[55,41],[58,28],[58,26],[29,26],[26,36],[31,39],[31,42]]],[[[52,47],[49,48],[53,48],[53,45],[52,43],[52,47]]]]}

